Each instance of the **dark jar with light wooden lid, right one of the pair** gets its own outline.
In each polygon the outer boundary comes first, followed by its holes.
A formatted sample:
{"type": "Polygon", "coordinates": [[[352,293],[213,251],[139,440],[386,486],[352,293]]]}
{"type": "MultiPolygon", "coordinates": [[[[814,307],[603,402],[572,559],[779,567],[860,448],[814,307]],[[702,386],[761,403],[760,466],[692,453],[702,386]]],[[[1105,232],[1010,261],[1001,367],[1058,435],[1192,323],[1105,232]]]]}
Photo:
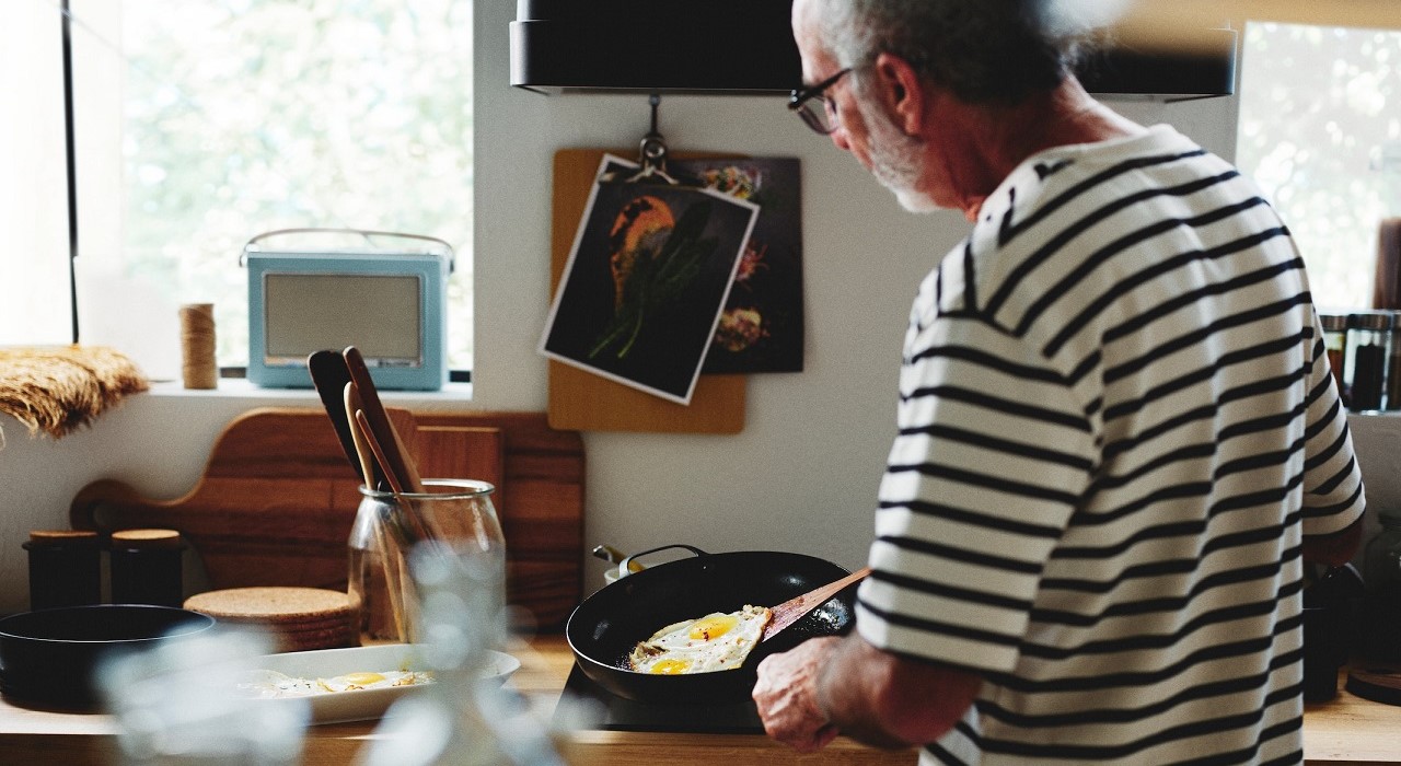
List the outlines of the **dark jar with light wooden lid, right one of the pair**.
{"type": "Polygon", "coordinates": [[[174,529],[112,532],[112,604],[182,606],[185,542],[174,529]]]}

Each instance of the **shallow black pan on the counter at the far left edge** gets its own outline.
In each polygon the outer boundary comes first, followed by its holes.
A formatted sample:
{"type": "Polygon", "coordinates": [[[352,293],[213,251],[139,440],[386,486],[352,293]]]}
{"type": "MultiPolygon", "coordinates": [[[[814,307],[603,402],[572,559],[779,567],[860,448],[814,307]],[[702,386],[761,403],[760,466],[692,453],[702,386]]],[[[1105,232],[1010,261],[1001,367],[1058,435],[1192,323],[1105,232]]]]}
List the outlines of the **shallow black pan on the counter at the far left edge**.
{"type": "Polygon", "coordinates": [[[20,703],[98,707],[94,671],[111,653],[134,651],[214,626],[207,615],[143,604],[98,604],[0,619],[0,689],[20,703]]]}

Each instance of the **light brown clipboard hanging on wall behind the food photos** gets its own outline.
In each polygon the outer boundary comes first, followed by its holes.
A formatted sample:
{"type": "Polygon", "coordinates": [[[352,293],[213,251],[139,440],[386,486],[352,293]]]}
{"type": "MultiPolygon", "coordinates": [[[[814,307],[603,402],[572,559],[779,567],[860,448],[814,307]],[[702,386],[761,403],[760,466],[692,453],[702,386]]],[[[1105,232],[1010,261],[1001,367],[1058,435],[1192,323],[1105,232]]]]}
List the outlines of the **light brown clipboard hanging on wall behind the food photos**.
{"type": "MultiPolygon", "coordinates": [[[[555,153],[551,228],[551,295],[565,273],[579,221],[604,154],[625,151],[563,148],[555,153]]],[[[677,153],[677,158],[699,154],[677,153]]],[[[577,367],[549,361],[549,424],[576,431],[726,433],[744,429],[744,375],[700,375],[689,405],[622,385],[577,367]]]]}

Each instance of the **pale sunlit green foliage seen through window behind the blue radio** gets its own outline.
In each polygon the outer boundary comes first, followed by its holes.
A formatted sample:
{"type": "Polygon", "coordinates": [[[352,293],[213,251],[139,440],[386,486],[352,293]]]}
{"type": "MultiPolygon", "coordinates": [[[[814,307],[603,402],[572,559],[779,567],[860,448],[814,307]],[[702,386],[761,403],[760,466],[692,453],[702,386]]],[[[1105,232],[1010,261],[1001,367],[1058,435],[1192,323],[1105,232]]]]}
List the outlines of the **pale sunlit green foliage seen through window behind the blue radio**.
{"type": "Polygon", "coordinates": [[[454,246],[450,363],[471,367],[471,0],[142,0],[122,14],[127,269],[174,301],[213,300],[220,364],[247,358],[244,242],[345,227],[454,246]]]}

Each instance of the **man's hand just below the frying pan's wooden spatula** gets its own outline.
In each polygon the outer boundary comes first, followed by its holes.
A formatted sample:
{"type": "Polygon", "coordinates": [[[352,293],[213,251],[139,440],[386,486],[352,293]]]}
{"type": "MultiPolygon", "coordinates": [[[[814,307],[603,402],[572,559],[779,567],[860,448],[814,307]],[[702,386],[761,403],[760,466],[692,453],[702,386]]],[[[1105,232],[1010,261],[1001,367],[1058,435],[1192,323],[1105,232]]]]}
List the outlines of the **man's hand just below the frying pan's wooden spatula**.
{"type": "Polygon", "coordinates": [[[810,639],[793,651],[759,662],[754,702],[769,737],[799,752],[821,749],[836,738],[817,700],[817,682],[841,639],[810,639]]]}

